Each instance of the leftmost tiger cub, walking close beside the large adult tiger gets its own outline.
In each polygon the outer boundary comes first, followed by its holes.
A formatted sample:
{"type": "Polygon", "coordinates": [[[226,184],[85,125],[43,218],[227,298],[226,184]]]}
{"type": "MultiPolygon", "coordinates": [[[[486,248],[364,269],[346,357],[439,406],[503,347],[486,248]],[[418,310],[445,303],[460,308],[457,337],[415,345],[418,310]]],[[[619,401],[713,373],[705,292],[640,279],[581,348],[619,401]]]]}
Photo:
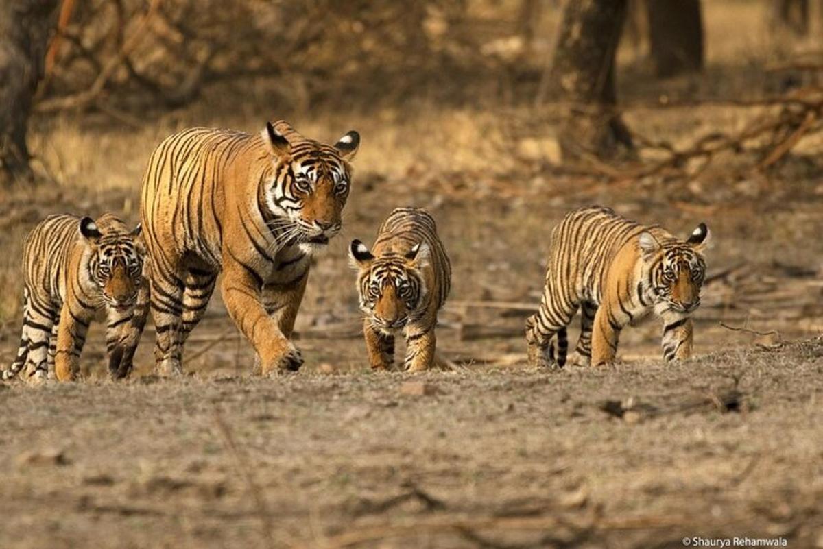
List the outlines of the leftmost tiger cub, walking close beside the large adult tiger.
{"type": "Polygon", "coordinates": [[[111,214],[96,221],[50,215],[29,233],[23,250],[23,334],[3,380],[23,367],[35,379],[50,371],[60,381],[76,379],[86,332],[100,316],[107,320],[109,373],[128,376],[146,321],[139,235],[140,225],[129,231],[111,214]]]}

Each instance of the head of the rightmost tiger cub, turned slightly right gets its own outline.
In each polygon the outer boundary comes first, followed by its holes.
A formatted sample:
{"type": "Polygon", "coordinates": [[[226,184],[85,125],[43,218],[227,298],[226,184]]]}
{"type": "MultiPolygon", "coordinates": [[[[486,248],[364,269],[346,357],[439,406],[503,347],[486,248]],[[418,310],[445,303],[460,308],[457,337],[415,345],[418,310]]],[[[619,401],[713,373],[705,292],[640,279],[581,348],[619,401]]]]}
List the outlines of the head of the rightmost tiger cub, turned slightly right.
{"type": "Polygon", "coordinates": [[[644,279],[658,314],[688,314],[700,306],[700,287],[706,274],[703,252],[709,239],[709,228],[703,223],[685,241],[672,238],[661,242],[652,233],[640,233],[638,243],[647,273],[644,279]]]}

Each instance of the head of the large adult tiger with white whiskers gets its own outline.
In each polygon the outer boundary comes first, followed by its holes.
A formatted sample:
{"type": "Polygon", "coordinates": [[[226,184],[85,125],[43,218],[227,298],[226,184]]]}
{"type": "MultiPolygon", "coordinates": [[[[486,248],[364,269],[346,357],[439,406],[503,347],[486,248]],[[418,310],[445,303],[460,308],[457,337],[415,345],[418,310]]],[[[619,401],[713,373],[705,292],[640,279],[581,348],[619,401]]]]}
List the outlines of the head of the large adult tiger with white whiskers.
{"type": "Polygon", "coordinates": [[[272,232],[304,251],[328,244],[342,228],[351,188],[351,166],[360,134],[349,131],[334,146],[301,136],[287,122],[266,122],[263,141],[272,155],[273,177],[264,190],[276,216],[272,232]]]}

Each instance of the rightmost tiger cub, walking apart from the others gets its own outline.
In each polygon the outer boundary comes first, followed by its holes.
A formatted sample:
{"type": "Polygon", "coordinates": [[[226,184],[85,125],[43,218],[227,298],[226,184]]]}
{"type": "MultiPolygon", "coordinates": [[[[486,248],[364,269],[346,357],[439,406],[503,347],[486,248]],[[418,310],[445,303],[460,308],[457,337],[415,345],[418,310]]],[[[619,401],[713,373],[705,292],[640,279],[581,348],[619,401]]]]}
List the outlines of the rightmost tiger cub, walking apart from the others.
{"type": "Polygon", "coordinates": [[[529,362],[553,366],[557,334],[557,364],[565,364],[566,326],[578,307],[574,362],[612,362],[621,329],[649,311],[663,319],[663,358],[689,358],[708,242],[702,223],[684,241],[602,206],[570,212],[551,233],[542,302],[526,323],[529,362]]]}

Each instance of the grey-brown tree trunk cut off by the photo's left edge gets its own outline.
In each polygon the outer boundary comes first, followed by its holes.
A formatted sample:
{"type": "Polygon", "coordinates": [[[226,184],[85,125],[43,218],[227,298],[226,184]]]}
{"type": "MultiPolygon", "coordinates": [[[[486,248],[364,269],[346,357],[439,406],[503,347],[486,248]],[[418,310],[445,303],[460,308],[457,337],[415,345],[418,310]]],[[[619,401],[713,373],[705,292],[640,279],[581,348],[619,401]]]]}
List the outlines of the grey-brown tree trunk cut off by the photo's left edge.
{"type": "Polygon", "coordinates": [[[32,181],[26,127],[59,0],[0,0],[0,185],[32,181]]]}

